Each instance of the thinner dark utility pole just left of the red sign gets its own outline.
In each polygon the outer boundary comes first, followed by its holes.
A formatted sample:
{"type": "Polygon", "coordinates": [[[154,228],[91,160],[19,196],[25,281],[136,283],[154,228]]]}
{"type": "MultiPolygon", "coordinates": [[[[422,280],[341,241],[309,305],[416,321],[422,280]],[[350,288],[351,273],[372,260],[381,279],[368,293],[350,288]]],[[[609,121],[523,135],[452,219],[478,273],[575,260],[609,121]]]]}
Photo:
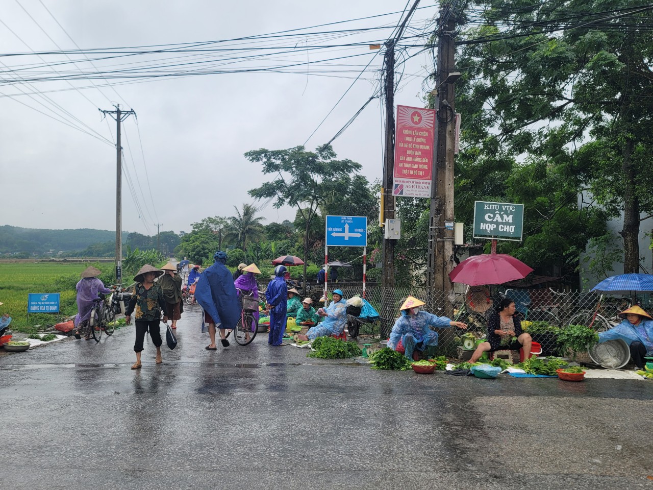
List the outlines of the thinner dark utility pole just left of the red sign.
{"type": "MultiPolygon", "coordinates": [[[[394,195],[392,194],[392,181],[394,180],[394,46],[404,34],[408,20],[415,12],[420,0],[415,0],[413,7],[406,14],[397,33],[386,43],[385,50],[385,154],[383,155],[383,199],[382,220],[391,220],[394,215],[394,195]]],[[[381,250],[381,287],[394,287],[394,242],[388,238],[383,239],[383,248],[381,250]]]]}

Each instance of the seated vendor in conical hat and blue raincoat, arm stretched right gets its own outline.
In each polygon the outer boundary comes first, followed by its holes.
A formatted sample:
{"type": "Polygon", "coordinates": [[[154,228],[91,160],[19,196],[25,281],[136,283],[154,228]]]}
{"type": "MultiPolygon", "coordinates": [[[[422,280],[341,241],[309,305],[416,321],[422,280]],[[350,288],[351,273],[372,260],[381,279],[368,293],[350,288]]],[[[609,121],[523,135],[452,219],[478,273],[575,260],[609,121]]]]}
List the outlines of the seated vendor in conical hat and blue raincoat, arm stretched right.
{"type": "Polygon", "coordinates": [[[424,304],[426,304],[424,301],[409,296],[400,308],[401,316],[394,322],[390,332],[390,340],[388,340],[388,347],[392,350],[397,350],[397,346],[401,341],[406,349],[404,355],[408,359],[415,361],[419,361],[418,351],[425,350],[427,346],[438,345],[438,333],[432,331],[429,327],[467,328],[467,325],[460,321],[421,312],[419,307],[424,306],[424,304]]]}

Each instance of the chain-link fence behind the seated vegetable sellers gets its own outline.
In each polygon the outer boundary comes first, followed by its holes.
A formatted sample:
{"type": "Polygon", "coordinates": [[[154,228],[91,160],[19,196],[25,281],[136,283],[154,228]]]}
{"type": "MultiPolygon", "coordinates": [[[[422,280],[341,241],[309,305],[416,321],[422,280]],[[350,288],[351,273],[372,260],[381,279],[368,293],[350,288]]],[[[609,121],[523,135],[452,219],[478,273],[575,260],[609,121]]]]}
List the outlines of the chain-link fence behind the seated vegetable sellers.
{"type": "MultiPolygon", "coordinates": [[[[345,299],[361,295],[360,286],[340,286],[345,299]]],[[[603,296],[581,291],[556,291],[547,288],[503,289],[482,286],[465,287],[460,291],[436,291],[431,293],[420,288],[370,287],[366,291],[367,301],[381,315],[381,319],[362,323],[358,331],[362,336],[388,338],[399,308],[409,295],[426,302],[422,310],[438,316],[446,316],[468,324],[468,331],[482,338],[487,331],[487,319],[494,312],[494,305],[504,297],[515,301],[517,314],[534,342],[538,342],[543,355],[558,355],[558,329],[569,325],[585,325],[597,331],[607,330],[621,321],[618,313],[628,308],[630,298],[603,296]]],[[[645,310],[653,310],[650,295],[637,297],[645,310]]],[[[458,329],[438,329],[438,354],[456,356],[460,353],[458,329]]]]}

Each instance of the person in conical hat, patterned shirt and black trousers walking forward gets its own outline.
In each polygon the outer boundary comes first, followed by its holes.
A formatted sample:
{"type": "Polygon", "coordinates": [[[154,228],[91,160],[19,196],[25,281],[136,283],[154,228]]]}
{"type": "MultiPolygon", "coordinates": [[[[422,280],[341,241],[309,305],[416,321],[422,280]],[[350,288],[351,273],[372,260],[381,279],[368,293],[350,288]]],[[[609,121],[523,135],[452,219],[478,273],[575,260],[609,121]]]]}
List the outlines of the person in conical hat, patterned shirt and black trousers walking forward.
{"type": "Polygon", "coordinates": [[[168,321],[165,316],[166,304],[163,298],[163,290],[161,285],[154,282],[155,278],[161,276],[163,270],[152,267],[146,264],[140,268],[134,280],[136,284],[131,290],[131,301],[127,308],[127,316],[125,321],[127,325],[131,322],[131,314],[136,310],[134,315],[136,325],[136,342],[134,343],[134,351],[136,352],[136,363],[131,367],[132,369],[140,369],[140,353],[143,350],[143,341],[145,334],[150,331],[152,343],[157,348],[156,363],[161,364],[161,333],[159,327],[161,323],[161,312],[164,312],[163,321],[168,321]]]}

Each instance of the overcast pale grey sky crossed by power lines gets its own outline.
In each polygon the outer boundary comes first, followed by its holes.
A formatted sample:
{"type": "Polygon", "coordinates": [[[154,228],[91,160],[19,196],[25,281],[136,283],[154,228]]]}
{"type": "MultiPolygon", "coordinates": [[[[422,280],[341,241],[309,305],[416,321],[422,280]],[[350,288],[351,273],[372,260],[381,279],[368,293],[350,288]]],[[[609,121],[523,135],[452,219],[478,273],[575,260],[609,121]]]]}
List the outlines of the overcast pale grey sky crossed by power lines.
{"type": "MultiPolygon", "coordinates": [[[[114,104],[138,116],[123,123],[123,230],[153,235],[161,223],[162,231],[189,231],[206,216],[232,216],[234,205],[253,202],[247,190],[266,180],[245,152],[307,140],[313,149],[374,95],[383,52],[367,43],[387,39],[406,5],[3,2],[1,54],[30,54],[0,57],[0,225],[115,229],[116,123],[98,110],[114,104]],[[334,22],[342,23],[311,28],[334,22]],[[269,35],[281,31],[291,32],[269,35]],[[59,50],[66,54],[52,53],[59,50]],[[118,74],[133,78],[112,78],[118,74]]],[[[432,71],[432,54],[411,46],[423,44],[417,35],[430,29],[437,7],[428,0],[420,7],[407,31],[414,37],[398,54],[399,61],[415,55],[400,63],[395,103],[402,105],[423,105],[432,71]]],[[[370,181],[381,176],[382,129],[375,99],[333,143],[370,181]]],[[[266,223],[295,216],[257,204],[266,223]]]]}

